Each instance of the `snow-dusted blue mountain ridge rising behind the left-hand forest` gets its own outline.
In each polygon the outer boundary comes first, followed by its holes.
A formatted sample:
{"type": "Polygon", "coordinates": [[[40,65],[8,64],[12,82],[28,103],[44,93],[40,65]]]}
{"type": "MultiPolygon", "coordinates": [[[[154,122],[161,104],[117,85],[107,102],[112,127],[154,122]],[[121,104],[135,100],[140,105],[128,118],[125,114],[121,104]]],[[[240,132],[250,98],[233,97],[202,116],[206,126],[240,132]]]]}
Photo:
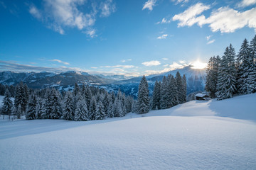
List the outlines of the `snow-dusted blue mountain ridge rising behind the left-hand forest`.
{"type": "Polygon", "coordinates": [[[113,80],[102,77],[92,76],[86,72],[68,71],[60,74],[52,72],[0,72],[0,83],[7,85],[16,85],[23,81],[31,88],[44,88],[49,86],[65,87],[78,84],[111,84],[113,80]]]}

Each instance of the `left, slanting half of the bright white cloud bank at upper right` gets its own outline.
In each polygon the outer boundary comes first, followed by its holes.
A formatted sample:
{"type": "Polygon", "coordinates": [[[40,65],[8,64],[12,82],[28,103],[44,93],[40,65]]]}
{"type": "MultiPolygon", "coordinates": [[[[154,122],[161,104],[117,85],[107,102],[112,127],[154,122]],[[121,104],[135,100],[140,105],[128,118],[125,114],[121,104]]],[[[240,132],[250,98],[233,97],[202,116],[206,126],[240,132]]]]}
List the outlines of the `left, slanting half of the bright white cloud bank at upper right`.
{"type": "Polygon", "coordinates": [[[179,13],[173,17],[173,21],[179,21],[178,27],[183,26],[193,26],[193,24],[198,23],[201,26],[201,20],[205,20],[205,16],[198,16],[203,11],[206,11],[210,8],[210,6],[203,5],[202,3],[198,3],[189,7],[183,13],[179,13]]]}

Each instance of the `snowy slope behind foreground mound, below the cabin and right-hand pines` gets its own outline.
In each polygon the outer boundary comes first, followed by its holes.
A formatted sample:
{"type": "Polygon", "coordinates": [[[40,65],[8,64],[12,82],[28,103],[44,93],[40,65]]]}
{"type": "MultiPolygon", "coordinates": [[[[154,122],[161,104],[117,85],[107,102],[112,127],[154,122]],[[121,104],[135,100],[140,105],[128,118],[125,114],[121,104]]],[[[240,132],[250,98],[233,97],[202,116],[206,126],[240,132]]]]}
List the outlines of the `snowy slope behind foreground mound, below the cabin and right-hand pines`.
{"type": "Polygon", "coordinates": [[[151,111],[152,115],[179,115],[205,116],[216,115],[221,117],[255,120],[256,121],[256,94],[235,96],[223,101],[190,101],[166,110],[151,111]]]}

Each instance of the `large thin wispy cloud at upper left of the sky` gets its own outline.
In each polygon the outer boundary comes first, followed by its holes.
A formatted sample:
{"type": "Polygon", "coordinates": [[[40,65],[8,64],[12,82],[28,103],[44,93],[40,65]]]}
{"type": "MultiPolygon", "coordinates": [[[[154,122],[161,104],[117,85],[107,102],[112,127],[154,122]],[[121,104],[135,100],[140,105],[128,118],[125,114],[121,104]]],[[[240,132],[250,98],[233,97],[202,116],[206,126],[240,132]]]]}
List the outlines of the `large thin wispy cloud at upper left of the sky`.
{"type": "Polygon", "coordinates": [[[41,10],[31,5],[29,12],[33,17],[45,23],[47,28],[60,34],[65,33],[65,28],[77,28],[87,32],[90,37],[95,37],[95,34],[92,34],[95,30],[91,27],[95,24],[98,11],[100,11],[100,16],[107,17],[115,10],[112,0],[99,3],[97,5],[96,2],[87,0],[44,0],[41,10]]]}

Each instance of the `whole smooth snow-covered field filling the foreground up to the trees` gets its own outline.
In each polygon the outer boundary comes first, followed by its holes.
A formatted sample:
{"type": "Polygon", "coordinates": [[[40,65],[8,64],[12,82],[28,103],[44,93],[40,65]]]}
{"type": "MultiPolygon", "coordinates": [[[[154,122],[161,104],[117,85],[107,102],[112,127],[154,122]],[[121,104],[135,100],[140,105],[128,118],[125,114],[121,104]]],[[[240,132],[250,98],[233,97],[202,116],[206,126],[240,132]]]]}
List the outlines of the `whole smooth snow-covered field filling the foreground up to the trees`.
{"type": "Polygon", "coordinates": [[[256,169],[255,101],[191,101],[88,122],[1,120],[0,169],[256,169]]]}

